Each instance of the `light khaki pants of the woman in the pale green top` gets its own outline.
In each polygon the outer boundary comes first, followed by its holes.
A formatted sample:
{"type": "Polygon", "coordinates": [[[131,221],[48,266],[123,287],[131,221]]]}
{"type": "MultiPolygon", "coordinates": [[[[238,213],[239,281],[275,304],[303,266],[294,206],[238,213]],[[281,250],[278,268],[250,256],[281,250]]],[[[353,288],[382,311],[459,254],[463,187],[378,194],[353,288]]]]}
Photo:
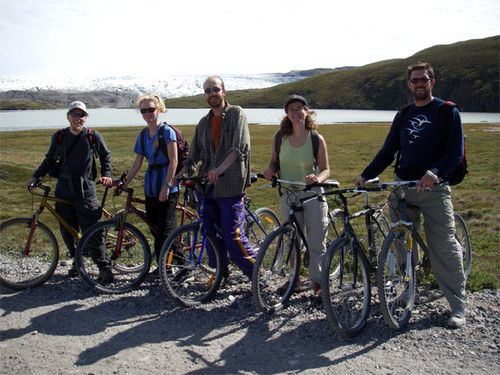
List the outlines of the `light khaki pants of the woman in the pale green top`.
{"type": "MultiPolygon", "coordinates": [[[[311,193],[299,192],[293,195],[303,198],[311,195],[311,193]]],[[[309,247],[309,278],[315,283],[321,283],[321,262],[326,253],[328,205],[326,201],[313,199],[307,201],[303,207],[304,210],[295,213],[295,217],[298,219],[309,247]]],[[[281,219],[283,223],[288,220],[289,213],[288,193],[284,191],[284,194],[281,196],[281,219]]]]}

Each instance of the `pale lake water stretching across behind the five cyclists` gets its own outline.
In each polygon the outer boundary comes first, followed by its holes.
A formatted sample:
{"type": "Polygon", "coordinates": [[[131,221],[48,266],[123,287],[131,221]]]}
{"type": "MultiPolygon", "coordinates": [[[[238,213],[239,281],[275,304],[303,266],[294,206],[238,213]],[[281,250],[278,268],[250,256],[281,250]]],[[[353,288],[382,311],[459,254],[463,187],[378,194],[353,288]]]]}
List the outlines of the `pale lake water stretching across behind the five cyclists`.
{"type": "MultiPolygon", "coordinates": [[[[282,109],[245,108],[249,124],[278,125],[284,115],[282,109]]],[[[173,125],[197,124],[208,109],[169,109],[162,120],[173,125]]],[[[347,109],[317,109],[318,124],[350,122],[391,122],[396,111],[368,111],[347,109]]],[[[462,122],[500,124],[500,113],[462,113],[462,122]]],[[[143,126],[136,109],[98,108],[90,110],[87,126],[143,126]]],[[[29,129],[59,129],[68,126],[65,109],[38,111],[0,111],[0,131],[29,129]]]]}

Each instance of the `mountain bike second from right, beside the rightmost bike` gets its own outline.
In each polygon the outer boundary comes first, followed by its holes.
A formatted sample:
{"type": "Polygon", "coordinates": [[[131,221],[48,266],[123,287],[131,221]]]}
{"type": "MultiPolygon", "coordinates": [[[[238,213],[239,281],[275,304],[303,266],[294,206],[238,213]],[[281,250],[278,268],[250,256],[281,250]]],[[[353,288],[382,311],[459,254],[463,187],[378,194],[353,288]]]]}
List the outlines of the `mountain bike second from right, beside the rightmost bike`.
{"type": "Polygon", "coordinates": [[[365,326],[370,312],[371,280],[377,270],[377,257],[387,233],[389,224],[384,215],[384,204],[371,204],[372,192],[368,181],[363,188],[348,188],[325,192],[334,197],[340,207],[344,231],[328,247],[322,263],[321,297],[326,317],[335,332],[343,337],[356,336],[365,326]],[[348,199],[363,195],[363,207],[351,213],[348,199]],[[366,237],[359,235],[353,221],[364,218],[366,237]]]}

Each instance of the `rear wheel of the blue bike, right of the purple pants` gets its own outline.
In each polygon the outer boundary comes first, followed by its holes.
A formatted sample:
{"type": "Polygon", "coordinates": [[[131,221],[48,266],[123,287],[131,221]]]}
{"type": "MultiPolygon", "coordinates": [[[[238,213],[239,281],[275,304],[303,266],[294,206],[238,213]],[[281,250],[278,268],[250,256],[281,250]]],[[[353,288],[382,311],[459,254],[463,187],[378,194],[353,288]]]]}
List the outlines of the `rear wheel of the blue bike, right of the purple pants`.
{"type": "Polygon", "coordinates": [[[261,207],[254,213],[255,218],[246,214],[245,234],[257,253],[266,236],[280,226],[278,216],[267,207],[261,207]]]}

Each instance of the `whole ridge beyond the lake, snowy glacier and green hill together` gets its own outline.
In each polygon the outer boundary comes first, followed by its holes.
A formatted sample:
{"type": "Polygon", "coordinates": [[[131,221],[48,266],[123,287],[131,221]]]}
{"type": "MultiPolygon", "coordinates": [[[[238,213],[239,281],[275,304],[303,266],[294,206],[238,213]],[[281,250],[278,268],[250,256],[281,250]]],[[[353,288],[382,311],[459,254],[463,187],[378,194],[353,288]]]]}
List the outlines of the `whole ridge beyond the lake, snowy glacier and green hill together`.
{"type": "MultiPolygon", "coordinates": [[[[500,36],[435,45],[406,58],[383,60],[359,67],[316,68],[261,75],[223,75],[228,101],[247,108],[281,108],[286,96],[307,97],[317,109],[395,110],[411,101],[406,67],[428,61],[436,72],[435,96],[452,100],[462,111],[500,112],[500,36]],[[263,83],[264,82],[264,83],[263,83]],[[259,86],[260,85],[260,86],[259,86]]],[[[8,90],[0,92],[0,109],[64,108],[71,100],[91,108],[129,108],[142,93],[160,93],[171,108],[205,108],[205,76],[173,82],[154,79],[134,81],[124,77],[118,89],[106,90],[8,90]],[[126,85],[134,83],[133,89],[126,85]],[[149,86],[147,84],[149,83],[149,86]],[[185,89],[189,95],[173,97],[168,90],[185,89]],[[163,90],[163,92],[162,92],[163,90]]],[[[118,81],[118,80],[115,80],[118,81]]],[[[92,84],[92,82],[91,82],[92,84]]],[[[0,78],[0,88],[2,87],[0,78]]],[[[5,87],[5,85],[3,85],[5,87]]]]}

